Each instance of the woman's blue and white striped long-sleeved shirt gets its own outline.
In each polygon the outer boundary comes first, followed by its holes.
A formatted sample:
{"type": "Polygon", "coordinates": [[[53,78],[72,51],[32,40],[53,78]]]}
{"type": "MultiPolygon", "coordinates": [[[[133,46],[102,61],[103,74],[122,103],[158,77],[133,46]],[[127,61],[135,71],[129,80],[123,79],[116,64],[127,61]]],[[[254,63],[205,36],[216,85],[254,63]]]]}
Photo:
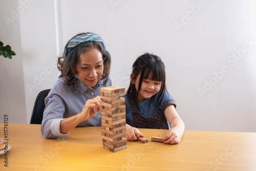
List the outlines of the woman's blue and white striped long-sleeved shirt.
{"type": "MultiPolygon", "coordinates": [[[[45,138],[57,138],[67,134],[60,133],[60,122],[64,118],[77,115],[83,109],[88,99],[99,95],[101,87],[112,86],[111,79],[105,85],[100,80],[90,88],[82,82],[72,85],[65,84],[65,78],[60,77],[45,98],[46,108],[42,118],[41,133],[45,138]]],[[[93,117],[80,122],[77,126],[101,126],[101,111],[93,117]]]]}

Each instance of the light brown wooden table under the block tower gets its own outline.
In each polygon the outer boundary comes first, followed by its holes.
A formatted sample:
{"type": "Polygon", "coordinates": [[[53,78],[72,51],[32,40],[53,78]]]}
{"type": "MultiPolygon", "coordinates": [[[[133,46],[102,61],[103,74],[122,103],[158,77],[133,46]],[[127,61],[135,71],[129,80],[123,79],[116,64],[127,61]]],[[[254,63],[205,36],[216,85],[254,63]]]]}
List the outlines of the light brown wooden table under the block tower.
{"type": "Polygon", "coordinates": [[[127,141],[112,153],[102,146],[100,127],[45,139],[40,126],[8,124],[8,168],[2,155],[0,170],[256,170],[256,133],[185,131],[179,144],[168,145],[151,141],[166,130],[140,129],[148,143],[127,141]]]}

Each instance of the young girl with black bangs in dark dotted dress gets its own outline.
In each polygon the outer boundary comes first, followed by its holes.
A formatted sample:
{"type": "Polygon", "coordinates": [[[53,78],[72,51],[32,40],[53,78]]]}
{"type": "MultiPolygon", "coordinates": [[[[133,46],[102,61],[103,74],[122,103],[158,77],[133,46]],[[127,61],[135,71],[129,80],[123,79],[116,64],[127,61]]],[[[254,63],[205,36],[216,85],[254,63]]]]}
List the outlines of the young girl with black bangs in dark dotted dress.
{"type": "Polygon", "coordinates": [[[175,109],[175,100],[166,91],[165,68],[160,57],[145,53],[136,59],[124,97],[127,140],[144,137],[138,130],[143,128],[169,129],[164,143],[180,142],[185,126],[175,109]]]}

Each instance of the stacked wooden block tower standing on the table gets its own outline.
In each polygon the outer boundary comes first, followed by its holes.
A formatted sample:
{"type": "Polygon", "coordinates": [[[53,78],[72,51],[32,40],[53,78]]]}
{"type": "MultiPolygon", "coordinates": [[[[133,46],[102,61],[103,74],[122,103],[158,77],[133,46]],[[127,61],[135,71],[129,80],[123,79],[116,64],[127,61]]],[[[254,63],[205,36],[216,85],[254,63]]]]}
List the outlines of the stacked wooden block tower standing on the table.
{"type": "Polygon", "coordinates": [[[125,128],[125,99],[124,88],[111,86],[100,88],[101,96],[101,129],[103,148],[118,152],[127,148],[125,128]]]}

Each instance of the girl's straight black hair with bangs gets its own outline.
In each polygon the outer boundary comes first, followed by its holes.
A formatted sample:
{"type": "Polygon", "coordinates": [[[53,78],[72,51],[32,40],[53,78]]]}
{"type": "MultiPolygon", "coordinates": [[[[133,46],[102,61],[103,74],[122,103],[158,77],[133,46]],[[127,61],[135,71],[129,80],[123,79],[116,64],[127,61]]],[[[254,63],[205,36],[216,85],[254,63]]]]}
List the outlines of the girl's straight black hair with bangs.
{"type": "Polygon", "coordinates": [[[164,92],[165,91],[167,92],[166,85],[165,85],[165,67],[164,67],[163,61],[157,55],[145,53],[145,54],[139,56],[135,60],[135,62],[133,63],[132,69],[133,69],[132,73],[134,73],[133,79],[136,79],[138,74],[141,73],[140,79],[139,79],[139,87],[138,87],[138,91],[137,91],[135,88],[135,84],[132,84],[132,80],[131,80],[130,86],[126,91],[126,94],[131,93],[131,94],[133,94],[135,99],[137,99],[143,79],[151,79],[151,80],[155,80],[155,81],[160,81],[160,82],[162,82],[161,88],[159,91],[160,94],[159,94],[157,100],[155,101],[155,106],[157,108],[157,106],[161,103],[161,100],[163,99],[164,92]],[[148,76],[150,74],[151,74],[151,78],[148,78],[148,76]]]}

